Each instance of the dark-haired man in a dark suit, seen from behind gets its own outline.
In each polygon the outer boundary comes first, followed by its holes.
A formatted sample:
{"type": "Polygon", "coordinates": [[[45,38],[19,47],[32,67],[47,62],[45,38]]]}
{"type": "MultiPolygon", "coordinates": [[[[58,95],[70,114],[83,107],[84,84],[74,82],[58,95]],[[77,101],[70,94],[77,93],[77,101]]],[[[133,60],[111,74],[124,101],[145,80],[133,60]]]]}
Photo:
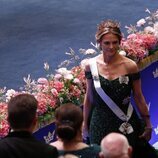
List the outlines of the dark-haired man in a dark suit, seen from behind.
{"type": "Polygon", "coordinates": [[[19,94],[8,103],[11,132],[0,140],[1,158],[57,158],[55,147],[36,140],[32,133],[37,123],[38,102],[33,95],[19,94]]]}

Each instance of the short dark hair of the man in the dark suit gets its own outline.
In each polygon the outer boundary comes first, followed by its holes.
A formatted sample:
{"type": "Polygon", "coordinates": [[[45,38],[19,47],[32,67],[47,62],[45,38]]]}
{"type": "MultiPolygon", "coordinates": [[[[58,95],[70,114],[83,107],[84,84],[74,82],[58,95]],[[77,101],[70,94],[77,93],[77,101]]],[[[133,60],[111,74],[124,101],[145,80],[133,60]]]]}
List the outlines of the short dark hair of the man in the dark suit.
{"type": "Polygon", "coordinates": [[[33,95],[19,94],[8,103],[8,122],[13,129],[29,128],[36,116],[38,102],[33,95]]]}

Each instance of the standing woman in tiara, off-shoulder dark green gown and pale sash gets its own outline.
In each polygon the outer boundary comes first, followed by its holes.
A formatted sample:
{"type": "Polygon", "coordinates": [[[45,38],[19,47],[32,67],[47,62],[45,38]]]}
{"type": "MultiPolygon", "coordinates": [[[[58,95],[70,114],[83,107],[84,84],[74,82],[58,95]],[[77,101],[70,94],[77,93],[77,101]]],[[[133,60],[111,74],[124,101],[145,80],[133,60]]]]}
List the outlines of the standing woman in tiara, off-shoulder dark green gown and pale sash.
{"type": "MultiPolygon", "coordinates": [[[[137,64],[119,54],[122,33],[114,20],[102,21],[96,32],[100,54],[85,65],[86,94],[84,99],[83,133],[90,143],[100,144],[110,132],[126,135],[134,154],[148,144],[152,124],[141,89],[137,64]],[[131,95],[136,106],[130,103],[131,95]],[[141,128],[142,121],[145,128],[141,128]]],[[[147,155],[147,154],[146,154],[147,155]]]]}

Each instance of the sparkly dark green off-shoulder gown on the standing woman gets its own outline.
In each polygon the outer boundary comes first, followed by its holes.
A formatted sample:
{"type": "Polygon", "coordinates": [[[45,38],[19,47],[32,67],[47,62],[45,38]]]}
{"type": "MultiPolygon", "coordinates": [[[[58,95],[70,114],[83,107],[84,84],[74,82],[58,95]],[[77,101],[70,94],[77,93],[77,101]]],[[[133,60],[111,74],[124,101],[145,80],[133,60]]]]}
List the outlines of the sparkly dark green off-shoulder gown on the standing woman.
{"type": "MultiPolygon", "coordinates": [[[[90,79],[90,74],[88,74],[88,78],[90,79]]],[[[120,76],[114,80],[108,80],[99,75],[99,79],[102,89],[120,107],[120,109],[125,114],[127,114],[127,108],[131,100],[130,97],[132,93],[132,82],[134,80],[140,79],[140,74],[128,74],[125,76],[120,76]],[[121,78],[128,78],[129,80],[128,82],[121,83],[121,78]]],[[[102,138],[106,136],[108,133],[121,133],[119,131],[119,127],[123,123],[123,121],[120,120],[112,112],[112,110],[101,99],[101,97],[98,95],[95,89],[93,90],[93,92],[94,104],[92,105],[92,111],[89,118],[90,143],[100,144],[102,138]]],[[[147,144],[147,146],[149,146],[150,148],[151,146],[148,142],[139,139],[139,136],[142,134],[144,129],[143,123],[141,119],[138,117],[136,109],[134,109],[133,114],[128,122],[132,125],[134,132],[131,134],[126,134],[125,136],[127,137],[130,145],[133,147],[135,151],[134,153],[139,153],[139,151],[141,153],[141,149],[139,150],[139,148],[142,148],[142,146],[144,146],[144,143],[147,144]]],[[[135,157],[137,156],[139,156],[139,154],[135,157]]]]}

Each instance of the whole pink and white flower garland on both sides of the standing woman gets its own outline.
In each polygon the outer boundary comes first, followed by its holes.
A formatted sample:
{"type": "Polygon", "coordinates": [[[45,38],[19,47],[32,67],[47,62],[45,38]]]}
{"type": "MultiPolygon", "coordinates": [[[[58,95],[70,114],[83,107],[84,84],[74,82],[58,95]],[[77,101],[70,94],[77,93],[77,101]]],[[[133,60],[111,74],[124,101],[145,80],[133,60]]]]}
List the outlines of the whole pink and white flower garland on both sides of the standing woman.
{"type": "MultiPolygon", "coordinates": [[[[126,26],[129,35],[127,38],[123,38],[120,51],[123,55],[135,60],[140,70],[158,60],[158,10],[151,13],[147,9],[146,12],[149,16],[139,20],[136,26],[126,26]]],[[[36,97],[38,100],[38,128],[53,120],[54,110],[58,106],[67,102],[73,102],[76,105],[83,103],[86,83],[82,66],[89,56],[100,53],[98,46],[91,44],[95,49],[80,49],[81,57],[70,48],[70,52],[66,52],[70,59],[63,61],[55,74],[50,72],[49,64],[44,63],[46,77],[37,80],[32,80],[30,75],[24,77],[25,85],[19,91],[7,90],[6,87],[0,88],[0,138],[7,135],[9,131],[7,103],[15,95],[29,93],[36,97]],[[86,59],[82,60],[85,56],[86,59]],[[66,67],[69,64],[77,66],[68,70],[66,67]]]]}

